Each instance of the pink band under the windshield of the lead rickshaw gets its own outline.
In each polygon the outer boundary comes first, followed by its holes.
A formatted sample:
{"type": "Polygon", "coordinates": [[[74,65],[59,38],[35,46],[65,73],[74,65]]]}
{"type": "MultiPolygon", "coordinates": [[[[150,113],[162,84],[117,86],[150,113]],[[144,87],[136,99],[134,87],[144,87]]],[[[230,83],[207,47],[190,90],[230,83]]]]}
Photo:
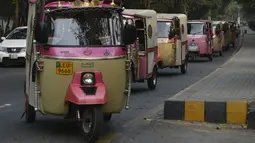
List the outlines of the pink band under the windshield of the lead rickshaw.
{"type": "Polygon", "coordinates": [[[43,56],[56,57],[115,57],[125,56],[124,48],[120,47],[50,47],[40,48],[43,56]]]}

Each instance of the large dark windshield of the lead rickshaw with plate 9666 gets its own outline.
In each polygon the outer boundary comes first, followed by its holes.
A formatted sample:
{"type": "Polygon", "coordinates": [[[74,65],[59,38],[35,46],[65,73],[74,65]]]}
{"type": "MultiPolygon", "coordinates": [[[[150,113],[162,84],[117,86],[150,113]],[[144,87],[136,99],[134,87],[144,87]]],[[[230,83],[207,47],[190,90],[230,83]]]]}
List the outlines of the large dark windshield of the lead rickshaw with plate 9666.
{"type": "Polygon", "coordinates": [[[48,27],[48,45],[56,47],[122,45],[122,21],[118,12],[46,14],[44,21],[48,27]]]}

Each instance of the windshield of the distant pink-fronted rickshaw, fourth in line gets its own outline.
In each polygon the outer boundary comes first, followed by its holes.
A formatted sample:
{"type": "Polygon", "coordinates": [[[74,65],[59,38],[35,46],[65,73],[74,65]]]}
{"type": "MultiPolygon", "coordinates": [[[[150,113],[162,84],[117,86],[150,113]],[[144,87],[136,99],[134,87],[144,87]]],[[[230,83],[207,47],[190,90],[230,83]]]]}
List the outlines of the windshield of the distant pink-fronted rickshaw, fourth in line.
{"type": "Polygon", "coordinates": [[[188,34],[205,34],[204,23],[188,23],[188,34]]]}

